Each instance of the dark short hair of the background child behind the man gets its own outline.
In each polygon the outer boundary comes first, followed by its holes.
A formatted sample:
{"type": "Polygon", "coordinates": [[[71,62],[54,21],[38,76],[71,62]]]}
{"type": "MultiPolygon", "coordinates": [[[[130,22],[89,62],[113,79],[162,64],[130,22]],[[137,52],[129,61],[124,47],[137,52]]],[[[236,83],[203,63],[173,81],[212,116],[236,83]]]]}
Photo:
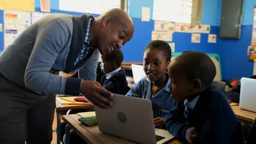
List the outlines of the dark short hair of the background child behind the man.
{"type": "Polygon", "coordinates": [[[101,58],[104,61],[109,61],[109,62],[114,61],[115,63],[117,63],[118,67],[120,67],[121,63],[123,62],[124,55],[121,50],[115,50],[102,55],[101,58]]]}

